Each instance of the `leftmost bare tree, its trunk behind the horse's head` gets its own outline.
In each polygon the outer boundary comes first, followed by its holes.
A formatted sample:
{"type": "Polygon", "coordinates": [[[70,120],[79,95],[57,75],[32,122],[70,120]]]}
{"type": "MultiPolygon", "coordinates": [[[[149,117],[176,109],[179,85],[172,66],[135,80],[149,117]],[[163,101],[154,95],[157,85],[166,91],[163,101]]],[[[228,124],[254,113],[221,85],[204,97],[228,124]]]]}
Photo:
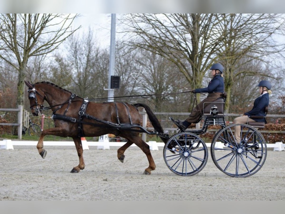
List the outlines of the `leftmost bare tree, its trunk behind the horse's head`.
{"type": "Polygon", "coordinates": [[[32,56],[51,53],[78,28],[70,14],[1,14],[0,58],[19,72],[17,104],[24,103],[24,79],[32,56]]]}

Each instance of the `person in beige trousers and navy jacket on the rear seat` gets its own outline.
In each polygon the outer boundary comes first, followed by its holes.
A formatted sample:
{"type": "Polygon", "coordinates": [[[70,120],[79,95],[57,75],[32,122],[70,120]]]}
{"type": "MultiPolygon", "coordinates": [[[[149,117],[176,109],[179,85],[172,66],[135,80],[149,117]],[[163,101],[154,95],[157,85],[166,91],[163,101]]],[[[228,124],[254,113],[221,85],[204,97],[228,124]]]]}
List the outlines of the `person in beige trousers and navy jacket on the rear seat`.
{"type": "MultiPolygon", "coordinates": [[[[271,84],[267,80],[262,80],[257,85],[259,87],[260,96],[255,99],[253,108],[243,116],[234,119],[234,124],[247,124],[248,122],[265,122],[264,118],[250,118],[249,116],[265,116],[265,107],[269,105],[269,94],[271,94],[271,84]]],[[[235,140],[240,142],[241,126],[235,126],[235,140]]]]}

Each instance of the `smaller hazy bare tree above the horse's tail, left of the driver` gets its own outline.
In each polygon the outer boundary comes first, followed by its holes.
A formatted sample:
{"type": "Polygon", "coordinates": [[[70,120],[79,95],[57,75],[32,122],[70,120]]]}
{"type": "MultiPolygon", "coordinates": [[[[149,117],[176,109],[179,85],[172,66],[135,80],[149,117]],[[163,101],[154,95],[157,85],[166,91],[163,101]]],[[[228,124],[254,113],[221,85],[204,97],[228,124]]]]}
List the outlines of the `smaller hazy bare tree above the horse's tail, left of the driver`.
{"type": "MultiPolygon", "coordinates": [[[[188,107],[189,100],[186,97],[190,99],[190,93],[188,93],[188,96],[184,96],[183,101],[179,99],[179,95],[160,96],[162,94],[181,92],[183,88],[181,85],[187,84],[183,74],[177,71],[177,67],[172,62],[146,50],[140,50],[137,53],[136,60],[139,74],[144,75],[139,80],[143,84],[137,84],[136,88],[143,94],[158,95],[148,98],[149,104],[155,111],[176,111],[181,106],[188,107]],[[174,72],[174,70],[176,71],[174,72]],[[176,100],[178,102],[175,102],[175,99],[179,101],[176,100]]],[[[184,110],[186,109],[184,108],[184,110]]]]}

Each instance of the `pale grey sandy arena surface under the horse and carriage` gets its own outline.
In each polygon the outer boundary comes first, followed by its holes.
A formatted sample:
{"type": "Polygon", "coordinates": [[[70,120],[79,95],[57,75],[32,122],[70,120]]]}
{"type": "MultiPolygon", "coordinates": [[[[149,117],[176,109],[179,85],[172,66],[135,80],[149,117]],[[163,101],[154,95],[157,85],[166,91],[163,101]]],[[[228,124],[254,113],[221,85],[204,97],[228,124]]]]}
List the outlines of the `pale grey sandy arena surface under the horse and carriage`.
{"type": "Polygon", "coordinates": [[[247,178],[225,175],[209,158],[193,176],[172,173],[164,163],[163,148],[151,151],[156,170],[143,175],[148,161],[137,147],[117,159],[117,147],[84,150],[85,169],[70,173],[78,165],[73,146],[45,146],[42,159],[34,146],[0,150],[0,200],[284,200],[285,151],[268,149],[263,167],[247,178]]]}

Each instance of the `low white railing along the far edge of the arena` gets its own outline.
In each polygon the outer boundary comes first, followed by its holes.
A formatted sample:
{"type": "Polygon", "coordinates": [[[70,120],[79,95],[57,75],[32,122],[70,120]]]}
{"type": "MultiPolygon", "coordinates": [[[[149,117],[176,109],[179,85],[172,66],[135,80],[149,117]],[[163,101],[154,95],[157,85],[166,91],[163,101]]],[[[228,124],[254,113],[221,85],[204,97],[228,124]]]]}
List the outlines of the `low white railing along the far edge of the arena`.
{"type": "MultiPolygon", "coordinates": [[[[0,141],[1,149],[14,149],[13,146],[36,146],[37,141],[17,141],[17,140],[2,140],[0,141]]],[[[97,149],[110,149],[110,146],[121,147],[126,142],[109,142],[106,140],[102,141],[86,141],[82,140],[83,149],[89,149],[89,146],[97,146],[97,149]]],[[[150,150],[158,150],[158,147],[164,147],[164,143],[150,141],[146,142],[150,146],[150,150]]],[[[75,146],[73,141],[44,141],[44,146],[75,146]]],[[[131,146],[136,146],[132,144],[131,146]]],[[[211,147],[211,143],[206,143],[208,148],[211,147]]],[[[224,147],[221,143],[221,147],[224,147]]],[[[282,142],[276,142],[275,144],[266,144],[267,148],[274,148],[274,151],[284,151],[285,144],[282,142]]]]}

